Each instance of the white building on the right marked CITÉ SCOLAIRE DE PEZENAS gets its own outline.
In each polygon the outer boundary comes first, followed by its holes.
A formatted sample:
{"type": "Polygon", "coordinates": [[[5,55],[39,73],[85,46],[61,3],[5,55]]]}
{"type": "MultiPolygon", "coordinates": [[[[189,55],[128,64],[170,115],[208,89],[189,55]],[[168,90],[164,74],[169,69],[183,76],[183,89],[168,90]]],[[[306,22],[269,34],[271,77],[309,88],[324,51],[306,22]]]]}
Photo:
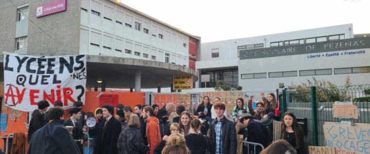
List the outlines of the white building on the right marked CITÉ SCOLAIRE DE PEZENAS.
{"type": "MultiPolygon", "coordinates": [[[[367,80],[370,77],[370,63],[367,60],[370,54],[367,51],[369,37],[362,36],[365,37],[354,38],[353,25],[346,24],[203,43],[196,69],[200,76],[209,74],[210,77],[206,76],[210,78],[207,87],[214,86],[217,80],[224,80],[233,88],[242,86],[243,90],[273,90],[279,88],[279,83],[287,87],[292,83],[307,82],[312,77],[342,86],[347,76],[353,85],[370,84],[367,80]],[[354,42],[358,45],[361,42],[361,46],[354,46],[354,42]],[[347,46],[334,50],[324,46],[337,44],[347,46]],[[306,51],[305,47],[312,45],[323,48],[320,51],[306,51]],[[279,56],[269,55],[273,54],[271,51],[277,54],[278,50],[282,52],[289,48],[296,50],[279,56]],[[347,54],[352,51],[359,54],[347,54]],[[335,56],[335,53],[339,55],[335,56]],[[320,57],[315,58],[317,55],[320,57]]],[[[208,79],[201,78],[197,88],[206,87],[202,80],[208,79]]]]}

